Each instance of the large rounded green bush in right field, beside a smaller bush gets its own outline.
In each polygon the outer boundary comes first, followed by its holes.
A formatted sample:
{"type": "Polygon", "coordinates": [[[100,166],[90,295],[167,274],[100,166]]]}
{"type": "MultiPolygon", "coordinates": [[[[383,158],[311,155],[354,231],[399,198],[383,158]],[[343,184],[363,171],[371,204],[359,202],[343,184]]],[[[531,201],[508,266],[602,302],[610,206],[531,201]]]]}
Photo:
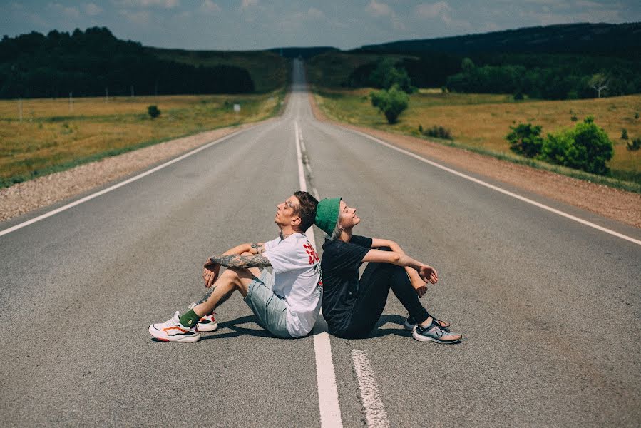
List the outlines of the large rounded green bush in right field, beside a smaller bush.
{"type": "Polygon", "coordinates": [[[605,164],[614,156],[612,142],[607,133],[588,116],[574,129],[565,129],[555,135],[548,135],[543,141],[543,161],[580,169],[588,173],[605,175],[609,168],[605,164]]]}

